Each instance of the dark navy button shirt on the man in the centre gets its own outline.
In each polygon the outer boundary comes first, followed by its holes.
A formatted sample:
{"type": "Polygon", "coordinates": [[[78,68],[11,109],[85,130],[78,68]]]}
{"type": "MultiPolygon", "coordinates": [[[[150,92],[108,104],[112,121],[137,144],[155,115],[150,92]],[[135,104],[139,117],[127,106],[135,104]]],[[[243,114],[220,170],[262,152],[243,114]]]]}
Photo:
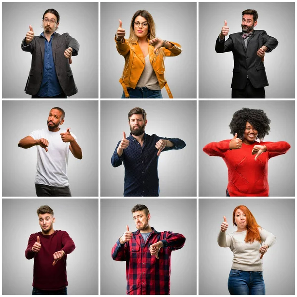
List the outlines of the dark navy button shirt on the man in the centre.
{"type": "Polygon", "coordinates": [[[132,136],[127,137],[129,146],[123,150],[121,157],[117,154],[117,148],[121,143],[118,142],[111,157],[113,167],[118,167],[124,162],[124,196],[159,196],[159,177],[158,177],[158,149],[156,142],[160,139],[170,140],[174,146],[165,147],[164,151],[172,149],[182,149],[186,146],[185,142],[179,138],[160,137],[155,134],[144,134],[143,146],[132,136]]]}

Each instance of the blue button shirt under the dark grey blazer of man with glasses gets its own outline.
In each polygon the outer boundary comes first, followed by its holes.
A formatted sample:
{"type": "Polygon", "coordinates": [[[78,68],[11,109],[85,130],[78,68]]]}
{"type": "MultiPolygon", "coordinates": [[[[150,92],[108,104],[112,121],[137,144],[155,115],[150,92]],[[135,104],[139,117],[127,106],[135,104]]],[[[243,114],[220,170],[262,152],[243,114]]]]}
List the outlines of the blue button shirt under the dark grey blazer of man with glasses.
{"type": "Polygon", "coordinates": [[[50,41],[45,38],[44,32],[39,36],[45,39],[45,52],[44,52],[44,65],[43,65],[43,75],[40,89],[37,93],[38,96],[42,97],[52,97],[59,95],[63,92],[54,66],[54,60],[52,55],[52,38],[55,32],[50,36],[50,41]]]}

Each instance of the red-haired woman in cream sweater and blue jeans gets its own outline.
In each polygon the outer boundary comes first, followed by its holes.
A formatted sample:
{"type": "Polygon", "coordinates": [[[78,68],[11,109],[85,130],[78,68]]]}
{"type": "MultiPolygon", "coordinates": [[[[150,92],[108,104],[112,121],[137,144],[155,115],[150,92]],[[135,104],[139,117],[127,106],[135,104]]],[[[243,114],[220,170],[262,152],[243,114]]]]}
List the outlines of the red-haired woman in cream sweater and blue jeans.
{"type": "Polygon", "coordinates": [[[224,216],[217,238],[220,247],[229,247],[233,252],[228,290],[231,295],[264,295],[262,258],[276,237],[260,227],[244,205],[235,207],[232,218],[237,230],[226,234],[228,223],[224,216]]]}

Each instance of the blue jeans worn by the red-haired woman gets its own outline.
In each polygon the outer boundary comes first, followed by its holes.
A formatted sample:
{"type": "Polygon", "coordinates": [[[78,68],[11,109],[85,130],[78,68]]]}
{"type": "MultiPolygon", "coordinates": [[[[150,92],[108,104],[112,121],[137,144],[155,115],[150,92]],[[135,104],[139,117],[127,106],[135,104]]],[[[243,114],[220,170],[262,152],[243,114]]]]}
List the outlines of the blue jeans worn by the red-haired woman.
{"type": "Polygon", "coordinates": [[[265,295],[263,271],[231,269],[228,290],[231,295],[265,295]]]}

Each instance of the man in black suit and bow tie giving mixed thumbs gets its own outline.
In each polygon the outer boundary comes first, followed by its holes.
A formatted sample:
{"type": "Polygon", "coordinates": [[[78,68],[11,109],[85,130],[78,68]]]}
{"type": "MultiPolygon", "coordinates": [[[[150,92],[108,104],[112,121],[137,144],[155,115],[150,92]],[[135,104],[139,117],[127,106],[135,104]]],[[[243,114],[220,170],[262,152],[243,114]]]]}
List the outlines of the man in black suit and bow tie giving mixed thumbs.
{"type": "Polygon", "coordinates": [[[232,51],[234,68],[232,77],[232,98],[265,98],[268,80],[264,66],[264,55],[278,45],[278,41],[266,31],[254,30],[258,13],[253,9],[242,12],[242,32],[228,35],[227,21],[216,40],[215,51],[232,51]]]}

